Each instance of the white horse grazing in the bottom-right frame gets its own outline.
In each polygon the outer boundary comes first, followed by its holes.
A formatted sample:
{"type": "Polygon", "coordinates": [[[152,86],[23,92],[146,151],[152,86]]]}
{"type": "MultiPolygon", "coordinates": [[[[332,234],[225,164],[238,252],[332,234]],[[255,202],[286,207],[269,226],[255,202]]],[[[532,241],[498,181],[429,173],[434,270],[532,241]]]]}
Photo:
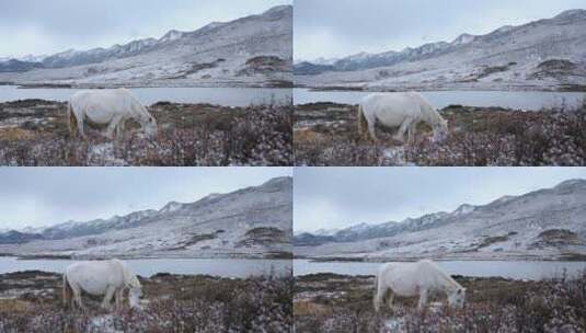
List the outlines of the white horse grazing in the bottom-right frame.
{"type": "Polygon", "coordinates": [[[420,296],[418,307],[427,305],[429,295],[444,294],[452,308],[462,308],[466,288],[460,286],[436,263],[422,260],[416,263],[388,263],[379,267],[375,278],[375,310],[378,312],[384,297],[392,309],[394,296],[420,296]]]}

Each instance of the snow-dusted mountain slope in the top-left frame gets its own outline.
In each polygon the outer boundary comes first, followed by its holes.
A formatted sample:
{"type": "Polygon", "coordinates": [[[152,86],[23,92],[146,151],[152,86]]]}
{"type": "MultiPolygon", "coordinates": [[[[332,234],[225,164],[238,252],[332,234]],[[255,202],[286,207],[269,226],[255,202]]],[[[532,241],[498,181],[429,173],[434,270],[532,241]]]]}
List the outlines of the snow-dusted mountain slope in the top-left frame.
{"type": "MultiPolygon", "coordinates": [[[[199,85],[292,81],[292,7],[280,5],[193,32],[90,50],[69,49],[38,62],[0,62],[0,81],[19,84],[199,85]],[[12,71],[12,72],[10,72],[12,71]]],[[[34,59],[30,57],[30,59],[34,59]]],[[[18,60],[21,61],[21,60],[18,60]]]]}

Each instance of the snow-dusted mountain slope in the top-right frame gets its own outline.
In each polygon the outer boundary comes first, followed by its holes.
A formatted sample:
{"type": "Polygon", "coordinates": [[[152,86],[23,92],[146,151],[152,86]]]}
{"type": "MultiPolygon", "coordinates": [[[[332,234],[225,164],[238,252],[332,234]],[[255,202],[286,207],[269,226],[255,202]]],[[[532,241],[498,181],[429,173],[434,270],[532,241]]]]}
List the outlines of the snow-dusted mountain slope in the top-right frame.
{"type": "Polygon", "coordinates": [[[462,34],[400,51],[360,53],[331,65],[296,64],[296,84],[366,89],[560,89],[586,85],[586,10],[462,34]]]}

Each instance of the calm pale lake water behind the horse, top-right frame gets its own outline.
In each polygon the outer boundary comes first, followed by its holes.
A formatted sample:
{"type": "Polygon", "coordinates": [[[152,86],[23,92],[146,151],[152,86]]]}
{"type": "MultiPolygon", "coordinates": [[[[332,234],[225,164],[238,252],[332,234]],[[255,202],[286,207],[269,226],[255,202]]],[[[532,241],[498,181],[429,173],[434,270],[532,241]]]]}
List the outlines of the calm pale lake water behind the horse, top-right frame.
{"type": "MultiPolygon", "coordinates": [[[[370,94],[364,91],[310,91],[298,88],[294,90],[295,104],[314,102],[335,102],[358,104],[370,94]]],[[[586,101],[583,92],[536,92],[536,91],[426,91],[422,94],[437,108],[450,104],[468,106],[502,106],[515,110],[540,110],[559,107],[565,103],[570,107],[582,105],[586,101]]]]}

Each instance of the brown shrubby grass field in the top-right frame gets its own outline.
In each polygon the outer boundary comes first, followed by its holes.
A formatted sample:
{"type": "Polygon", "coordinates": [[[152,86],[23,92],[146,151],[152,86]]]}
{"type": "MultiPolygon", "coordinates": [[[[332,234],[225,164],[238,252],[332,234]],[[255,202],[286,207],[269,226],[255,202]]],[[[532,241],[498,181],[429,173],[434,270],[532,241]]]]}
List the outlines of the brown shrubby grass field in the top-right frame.
{"type": "Polygon", "coordinates": [[[358,136],[357,105],[295,106],[296,165],[584,165],[586,105],[578,110],[521,112],[451,105],[439,111],[448,138],[432,142],[420,124],[415,142],[402,145],[393,129],[377,126],[379,141],[358,136]]]}

